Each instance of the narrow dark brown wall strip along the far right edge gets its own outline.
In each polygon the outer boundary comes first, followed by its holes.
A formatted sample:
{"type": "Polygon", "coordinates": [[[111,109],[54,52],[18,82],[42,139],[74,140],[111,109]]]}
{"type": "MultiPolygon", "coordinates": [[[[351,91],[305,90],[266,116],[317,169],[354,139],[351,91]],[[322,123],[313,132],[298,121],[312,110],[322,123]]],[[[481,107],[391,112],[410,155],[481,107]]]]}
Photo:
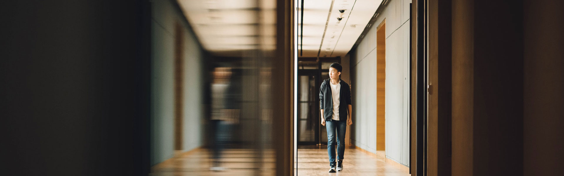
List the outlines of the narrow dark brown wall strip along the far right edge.
{"type": "Polygon", "coordinates": [[[523,1],[523,175],[558,175],[564,158],[563,1],[523,1]]]}

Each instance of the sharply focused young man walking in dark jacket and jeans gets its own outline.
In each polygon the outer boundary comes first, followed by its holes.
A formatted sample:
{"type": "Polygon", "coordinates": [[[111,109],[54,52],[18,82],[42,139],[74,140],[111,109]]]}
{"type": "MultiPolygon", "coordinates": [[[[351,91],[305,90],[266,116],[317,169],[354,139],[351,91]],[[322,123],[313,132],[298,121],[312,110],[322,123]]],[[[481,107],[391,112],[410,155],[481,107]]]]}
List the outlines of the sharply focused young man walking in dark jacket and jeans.
{"type": "Polygon", "coordinates": [[[321,83],[319,107],[321,125],[327,125],[327,152],[329,153],[330,173],[343,170],[345,155],[345,134],[351,119],[351,90],[349,84],[341,80],[341,64],[329,66],[329,79],[321,83]],[[335,162],[335,137],[337,137],[337,162],[335,162]]]}

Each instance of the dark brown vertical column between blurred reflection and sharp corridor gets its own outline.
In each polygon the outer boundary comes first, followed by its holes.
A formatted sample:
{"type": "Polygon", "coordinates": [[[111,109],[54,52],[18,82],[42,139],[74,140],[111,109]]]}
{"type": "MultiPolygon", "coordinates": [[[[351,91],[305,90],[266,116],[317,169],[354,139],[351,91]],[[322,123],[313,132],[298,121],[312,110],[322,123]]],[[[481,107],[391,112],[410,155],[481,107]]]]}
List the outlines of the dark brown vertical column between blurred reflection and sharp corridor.
{"type": "Polygon", "coordinates": [[[293,175],[294,1],[276,1],[276,55],[272,58],[272,142],[276,175],[293,175]]]}

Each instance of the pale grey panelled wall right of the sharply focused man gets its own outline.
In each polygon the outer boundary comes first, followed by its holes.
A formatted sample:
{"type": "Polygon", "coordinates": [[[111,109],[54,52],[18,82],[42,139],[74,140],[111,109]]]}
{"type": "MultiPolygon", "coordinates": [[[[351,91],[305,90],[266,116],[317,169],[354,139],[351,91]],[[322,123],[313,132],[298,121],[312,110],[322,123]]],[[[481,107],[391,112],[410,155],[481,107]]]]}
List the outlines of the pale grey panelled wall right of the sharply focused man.
{"type": "MultiPolygon", "coordinates": [[[[376,19],[386,20],[386,157],[409,166],[409,0],[393,0],[376,19]]],[[[376,152],[376,27],[351,51],[354,136],[376,152]]]]}

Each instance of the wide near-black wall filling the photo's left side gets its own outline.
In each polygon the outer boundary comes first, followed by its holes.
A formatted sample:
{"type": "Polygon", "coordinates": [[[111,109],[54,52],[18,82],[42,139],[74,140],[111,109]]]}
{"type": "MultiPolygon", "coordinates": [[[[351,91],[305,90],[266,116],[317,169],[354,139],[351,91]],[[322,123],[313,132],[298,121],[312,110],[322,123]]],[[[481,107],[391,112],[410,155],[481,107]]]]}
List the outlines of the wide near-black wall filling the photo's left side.
{"type": "Polygon", "coordinates": [[[148,173],[146,1],[5,1],[3,175],[148,173]]]}

